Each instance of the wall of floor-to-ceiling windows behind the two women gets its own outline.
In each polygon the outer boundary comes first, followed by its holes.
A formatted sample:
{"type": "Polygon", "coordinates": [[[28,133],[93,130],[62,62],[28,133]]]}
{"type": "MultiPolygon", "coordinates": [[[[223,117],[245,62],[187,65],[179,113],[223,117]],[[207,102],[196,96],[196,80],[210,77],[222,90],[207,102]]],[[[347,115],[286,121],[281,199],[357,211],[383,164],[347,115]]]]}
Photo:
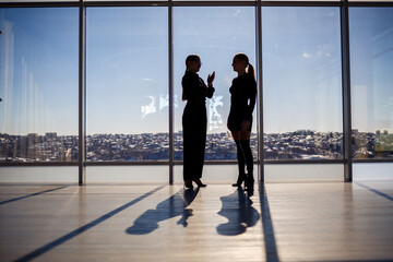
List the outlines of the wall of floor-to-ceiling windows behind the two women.
{"type": "Polygon", "coordinates": [[[393,7],[384,2],[0,0],[0,172],[20,181],[72,174],[73,181],[78,165],[87,165],[87,182],[168,181],[175,165],[181,181],[181,78],[186,57],[198,53],[199,74],[216,72],[206,102],[206,179],[235,178],[226,119],[237,52],[261,72],[252,148],[258,162],[263,138],[267,181],[283,174],[342,179],[345,135],[353,138],[355,171],[364,162],[388,162],[381,170],[392,170],[393,7]],[[342,23],[349,25],[350,70],[342,67],[342,23]],[[343,133],[343,72],[350,76],[352,133],[343,133]],[[83,164],[79,87],[86,88],[83,164]]]}

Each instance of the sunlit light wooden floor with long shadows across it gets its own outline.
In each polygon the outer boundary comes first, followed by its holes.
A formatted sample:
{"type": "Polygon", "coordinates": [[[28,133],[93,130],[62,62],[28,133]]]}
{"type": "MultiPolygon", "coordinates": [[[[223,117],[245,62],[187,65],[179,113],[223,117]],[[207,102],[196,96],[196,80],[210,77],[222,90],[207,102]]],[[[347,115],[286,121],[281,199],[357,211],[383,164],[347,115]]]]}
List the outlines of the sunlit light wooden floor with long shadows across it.
{"type": "Polygon", "coordinates": [[[393,261],[393,181],[1,184],[0,261],[31,260],[393,261]]]}

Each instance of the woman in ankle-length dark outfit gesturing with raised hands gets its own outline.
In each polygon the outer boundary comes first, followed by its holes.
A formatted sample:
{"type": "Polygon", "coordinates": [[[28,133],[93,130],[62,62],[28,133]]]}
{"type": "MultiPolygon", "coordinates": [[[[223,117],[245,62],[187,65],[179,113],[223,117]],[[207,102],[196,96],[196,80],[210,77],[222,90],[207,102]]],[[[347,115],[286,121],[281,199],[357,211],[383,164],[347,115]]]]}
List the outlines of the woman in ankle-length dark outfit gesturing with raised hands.
{"type": "Polygon", "coordinates": [[[206,187],[201,181],[206,143],[206,97],[214,93],[215,72],[207,76],[207,86],[196,72],[201,69],[201,58],[190,55],[186,59],[186,73],[182,78],[182,99],[187,100],[182,116],[183,128],[183,179],[184,186],[192,189],[192,181],[198,187],[206,187]]]}

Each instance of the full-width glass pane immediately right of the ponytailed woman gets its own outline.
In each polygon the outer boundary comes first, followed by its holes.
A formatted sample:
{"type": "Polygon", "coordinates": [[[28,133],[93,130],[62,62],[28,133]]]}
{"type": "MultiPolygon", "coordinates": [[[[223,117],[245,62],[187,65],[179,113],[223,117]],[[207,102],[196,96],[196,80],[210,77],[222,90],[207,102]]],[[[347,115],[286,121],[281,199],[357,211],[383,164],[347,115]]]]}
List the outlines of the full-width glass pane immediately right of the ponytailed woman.
{"type": "Polygon", "coordinates": [[[265,159],[343,157],[338,8],[262,8],[265,159]]]}

